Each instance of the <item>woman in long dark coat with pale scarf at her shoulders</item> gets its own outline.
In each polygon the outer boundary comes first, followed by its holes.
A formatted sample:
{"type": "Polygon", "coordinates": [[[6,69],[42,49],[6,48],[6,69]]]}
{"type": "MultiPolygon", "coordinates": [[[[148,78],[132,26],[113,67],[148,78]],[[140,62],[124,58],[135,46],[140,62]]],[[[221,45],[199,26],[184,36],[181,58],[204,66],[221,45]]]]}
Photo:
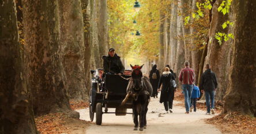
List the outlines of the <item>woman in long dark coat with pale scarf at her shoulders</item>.
{"type": "Polygon", "coordinates": [[[175,79],[174,76],[170,72],[170,68],[165,67],[163,75],[160,77],[158,91],[161,91],[160,96],[160,103],[164,102],[165,111],[168,113],[168,110],[172,113],[172,97],[171,93],[174,92],[174,88],[170,88],[170,80],[175,79]],[[163,84],[162,88],[160,89],[161,85],[163,84]]]}

